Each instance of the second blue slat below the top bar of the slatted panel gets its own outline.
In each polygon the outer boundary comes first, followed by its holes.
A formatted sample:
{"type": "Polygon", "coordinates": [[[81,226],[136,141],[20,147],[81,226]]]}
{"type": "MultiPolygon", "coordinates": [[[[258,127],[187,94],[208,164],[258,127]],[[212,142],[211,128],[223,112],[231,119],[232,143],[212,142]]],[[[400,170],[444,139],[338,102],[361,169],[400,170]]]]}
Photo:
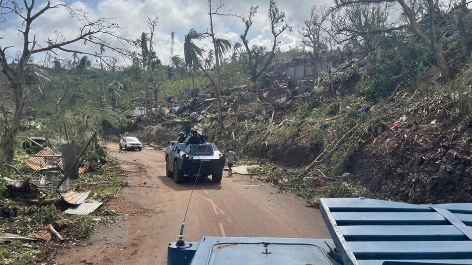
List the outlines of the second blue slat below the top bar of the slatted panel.
{"type": "Polygon", "coordinates": [[[346,241],[452,241],[467,240],[453,225],[338,226],[346,241]]]}

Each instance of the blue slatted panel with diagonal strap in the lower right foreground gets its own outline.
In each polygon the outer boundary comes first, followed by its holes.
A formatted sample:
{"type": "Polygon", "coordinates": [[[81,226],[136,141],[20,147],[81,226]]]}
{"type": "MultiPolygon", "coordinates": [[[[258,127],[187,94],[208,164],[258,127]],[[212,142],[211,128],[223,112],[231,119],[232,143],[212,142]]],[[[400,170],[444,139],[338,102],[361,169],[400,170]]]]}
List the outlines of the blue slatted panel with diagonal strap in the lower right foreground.
{"type": "Polygon", "coordinates": [[[471,264],[472,203],[349,198],[320,199],[319,208],[344,265],[471,264]]]}

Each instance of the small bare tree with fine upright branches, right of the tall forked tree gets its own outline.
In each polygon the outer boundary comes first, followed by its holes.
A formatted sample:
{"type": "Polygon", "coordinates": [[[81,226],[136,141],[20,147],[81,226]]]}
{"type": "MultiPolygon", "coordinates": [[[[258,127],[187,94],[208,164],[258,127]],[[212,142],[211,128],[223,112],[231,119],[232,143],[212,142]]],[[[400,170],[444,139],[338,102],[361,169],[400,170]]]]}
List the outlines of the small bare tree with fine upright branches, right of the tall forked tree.
{"type": "Polygon", "coordinates": [[[302,43],[311,48],[309,54],[313,61],[319,60],[321,53],[327,49],[322,39],[322,33],[328,16],[329,12],[326,5],[319,8],[314,5],[310,12],[310,19],[305,20],[303,28],[298,31],[303,37],[302,43]]]}

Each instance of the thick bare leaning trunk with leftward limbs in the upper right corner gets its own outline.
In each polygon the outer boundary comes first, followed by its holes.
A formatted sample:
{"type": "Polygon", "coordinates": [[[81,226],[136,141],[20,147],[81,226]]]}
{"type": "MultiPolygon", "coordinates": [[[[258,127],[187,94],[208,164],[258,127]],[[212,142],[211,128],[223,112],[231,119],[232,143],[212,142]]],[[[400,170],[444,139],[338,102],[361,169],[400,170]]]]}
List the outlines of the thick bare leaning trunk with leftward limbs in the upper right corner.
{"type": "MultiPolygon", "coordinates": [[[[385,27],[383,28],[367,30],[354,27],[341,27],[341,31],[348,31],[346,39],[352,39],[355,36],[368,36],[369,34],[383,34],[396,30],[410,29],[427,47],[429,47],[436,65],[439,67],[444,76],[449,77],[451,70],[444,56],[441,44],[437,41],[438,36],[436,34],[435,14],[439,9],[438,1],[426,0],[418,2],[406,2],[405,0],[335,0],[333,10],[359,4],[381,5],[393,2],[396,2],[400,6],[402,15],[406,17],[407,23],[389,23],[385,24],[385,27]],[[419,12],[420,10],[425,12],[421,14],[419,12]],[[423,26],[422,22],[426,22],[427,26],[423,26]]],[[[382,14],[379,14],[379,16],[382,16],[382,14]]],[[[397,21],[401,21],[401,19],[398,19],[397,21]]]]}

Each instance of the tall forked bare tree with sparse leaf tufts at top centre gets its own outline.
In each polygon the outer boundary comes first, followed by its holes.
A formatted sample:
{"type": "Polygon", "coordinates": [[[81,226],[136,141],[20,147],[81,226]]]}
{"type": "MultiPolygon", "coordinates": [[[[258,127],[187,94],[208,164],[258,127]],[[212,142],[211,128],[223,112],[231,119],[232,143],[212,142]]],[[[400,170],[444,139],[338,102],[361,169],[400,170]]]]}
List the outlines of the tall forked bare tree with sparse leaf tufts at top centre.
{"type": "MultiPolygon", "coordinates": [[[[242,21],[245,24],[244,32],[240,35],[242,44],[246,48],[247,62],[249,66],[249,73],[251,75],[251,81],[253,83],[257,82],[257,79],[261,74],[267,69],[272,60],[274,59],[277,48],[279,47],[280,41],[277,38],[284,31],[292,31],[290,27],[290,22],[292,19],[285,20],[285,12],[279,10],[277,3],[274,0],[269,0],[269,21],[270,29],[273,36],[273,43],[271,51],[266,54],[266,48],[259,45],[253,45],[249,47],[249,40],[247,40],[247,34],[249,29],[254,24],[253,18],[257,14],[259,6],[249,7],[249,14],[247,17],[242,18],[242,21]]],[[[257,85],[257,84],[256,84],[257,85]]]]}

